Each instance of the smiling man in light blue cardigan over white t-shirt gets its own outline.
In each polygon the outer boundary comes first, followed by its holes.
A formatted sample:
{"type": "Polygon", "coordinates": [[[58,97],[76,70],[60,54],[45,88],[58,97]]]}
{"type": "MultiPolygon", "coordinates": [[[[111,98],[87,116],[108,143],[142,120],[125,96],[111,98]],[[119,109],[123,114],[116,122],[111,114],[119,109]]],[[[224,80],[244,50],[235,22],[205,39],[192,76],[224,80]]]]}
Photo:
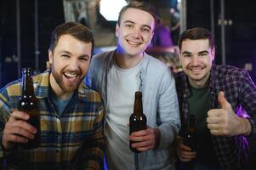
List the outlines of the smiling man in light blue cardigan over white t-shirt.
{"type": "Polygon", "coordinates": [[[117,48],[96,54],[88,83],[99,90],[106,107],[105,158],[109,169],[174,169],[171,144],[179,131],[174,77],[167,65],[145,54],[156,27],[155,9],[132,1],[116,26],[117,48]],[[129,135],[134,94],[142,92],[147,128],[129,135]],[[132,147],[141,153],[134,154],[132,147]]]}

